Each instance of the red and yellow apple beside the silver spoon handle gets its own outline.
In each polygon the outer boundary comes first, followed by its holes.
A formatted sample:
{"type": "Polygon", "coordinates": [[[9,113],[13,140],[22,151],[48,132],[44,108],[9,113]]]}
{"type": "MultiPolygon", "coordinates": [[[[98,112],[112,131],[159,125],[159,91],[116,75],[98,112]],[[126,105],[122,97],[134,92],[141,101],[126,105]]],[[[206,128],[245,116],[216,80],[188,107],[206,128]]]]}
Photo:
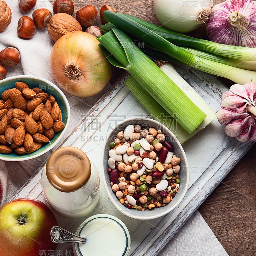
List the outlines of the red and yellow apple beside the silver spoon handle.
{"type": "Polygon", "coordinates": [[[50,236],[54,225],[54,214],[39,200],[21,198],[4,204],[0,208],[0,256],[48,255],[57,247],[50,236]]]}

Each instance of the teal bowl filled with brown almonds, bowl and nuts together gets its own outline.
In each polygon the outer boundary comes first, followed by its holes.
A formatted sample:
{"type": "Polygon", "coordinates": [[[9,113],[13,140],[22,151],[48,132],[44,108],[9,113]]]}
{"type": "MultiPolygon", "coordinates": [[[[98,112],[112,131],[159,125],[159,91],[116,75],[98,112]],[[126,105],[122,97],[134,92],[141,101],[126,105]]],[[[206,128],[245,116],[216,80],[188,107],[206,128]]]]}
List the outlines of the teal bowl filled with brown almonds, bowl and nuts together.
{"type": "Polygon", "coordinates": [[[36,76],[0,81],[0,159],[23,161],[56,146],[70,118],[68,100],[51,82],[36,76]]]}

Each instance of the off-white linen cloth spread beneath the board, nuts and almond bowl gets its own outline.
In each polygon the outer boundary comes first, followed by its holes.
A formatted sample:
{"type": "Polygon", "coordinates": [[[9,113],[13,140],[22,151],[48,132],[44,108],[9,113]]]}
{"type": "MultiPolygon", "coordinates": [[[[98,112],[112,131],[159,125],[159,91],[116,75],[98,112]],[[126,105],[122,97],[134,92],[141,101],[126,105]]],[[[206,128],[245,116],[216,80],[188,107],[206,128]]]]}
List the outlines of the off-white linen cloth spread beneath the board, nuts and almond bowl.
{"type": "MultiPolygon", "coordinates": [[[[49,68],[49,55],[53,41],[47,34],[47,29],[36,28],[32,39],[21,39],[17,36],[17,22],[21,16],[32,17],[33,10],[47,8],[52,11],[52,5],[47,0],[38,0],[36,7],[30,12],[22,12],[17,0],[5,0],[12,10],[12,21],[8,28],[0,33],[0,50],[13,46],[20,51],[20,64],[7,68],[7,77],[16,75],[34,75],[48,79],[56,84],[49,68]]],[[[77,98],[64,92],[71,107],[71,120],[64,138],[68,136],[80,119],[97,102],[104,92],[90,98],[77,98]]],[[[63,139],[64,139],[63,138],[63,139]]],[[[3,189],[1,205],[11,200],[12,196],[32,176],[38,167],[50,156],[54,149],[38,158],[22,162],[4,162],[0,160],[0,182],[3,189]]],[[[163,248],[159,256],[225,256],[228,255],[220,242],[212,233],[201,214],[196,211],[172,240],[163,248]]],[[[104,255],[103,255],[104,256],[104,255]]]]}

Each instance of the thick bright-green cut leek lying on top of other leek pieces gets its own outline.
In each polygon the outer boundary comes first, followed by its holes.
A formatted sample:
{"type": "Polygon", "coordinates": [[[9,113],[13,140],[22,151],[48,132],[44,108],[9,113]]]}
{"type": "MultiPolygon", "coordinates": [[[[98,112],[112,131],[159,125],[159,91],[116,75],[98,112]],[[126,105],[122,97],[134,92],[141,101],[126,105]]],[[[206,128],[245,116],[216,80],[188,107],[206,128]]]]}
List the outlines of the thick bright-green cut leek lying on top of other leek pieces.
{"type": "Polygon", "coordinates": [[[188,133],[202,123],[205,113],[124,32],[113,28],[97,39],[110,63],[127,70],[188,133]]]}

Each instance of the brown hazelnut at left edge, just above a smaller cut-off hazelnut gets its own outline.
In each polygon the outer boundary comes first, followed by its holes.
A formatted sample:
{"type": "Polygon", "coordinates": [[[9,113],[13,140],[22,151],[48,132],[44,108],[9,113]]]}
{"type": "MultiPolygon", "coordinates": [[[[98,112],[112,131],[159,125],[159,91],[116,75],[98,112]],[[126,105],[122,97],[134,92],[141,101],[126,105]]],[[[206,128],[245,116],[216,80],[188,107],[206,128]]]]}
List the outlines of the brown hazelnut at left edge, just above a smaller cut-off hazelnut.
{"type": "Polygon", "coordinates": [[[13,47],[4,48],[0,52],[0,63],[3,66],[16,66],[20,62],[20,52],[13,47]]]}

